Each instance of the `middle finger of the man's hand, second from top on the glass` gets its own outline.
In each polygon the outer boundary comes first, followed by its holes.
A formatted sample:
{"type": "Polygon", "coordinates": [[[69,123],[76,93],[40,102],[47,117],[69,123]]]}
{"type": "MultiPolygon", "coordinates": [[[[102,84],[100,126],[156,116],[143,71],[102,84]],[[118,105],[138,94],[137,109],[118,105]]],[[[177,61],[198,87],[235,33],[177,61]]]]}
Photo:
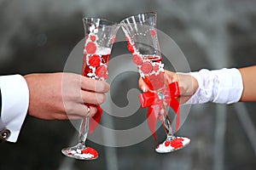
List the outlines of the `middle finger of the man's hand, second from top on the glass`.
{"type": "Polygon", "coordinates": [[[89,103],[94,105],[101,105],[106,100],[105,94],[98,94],[84,90],[81,90],[81,96],[83,99],[83,103],[89,103]]]}

